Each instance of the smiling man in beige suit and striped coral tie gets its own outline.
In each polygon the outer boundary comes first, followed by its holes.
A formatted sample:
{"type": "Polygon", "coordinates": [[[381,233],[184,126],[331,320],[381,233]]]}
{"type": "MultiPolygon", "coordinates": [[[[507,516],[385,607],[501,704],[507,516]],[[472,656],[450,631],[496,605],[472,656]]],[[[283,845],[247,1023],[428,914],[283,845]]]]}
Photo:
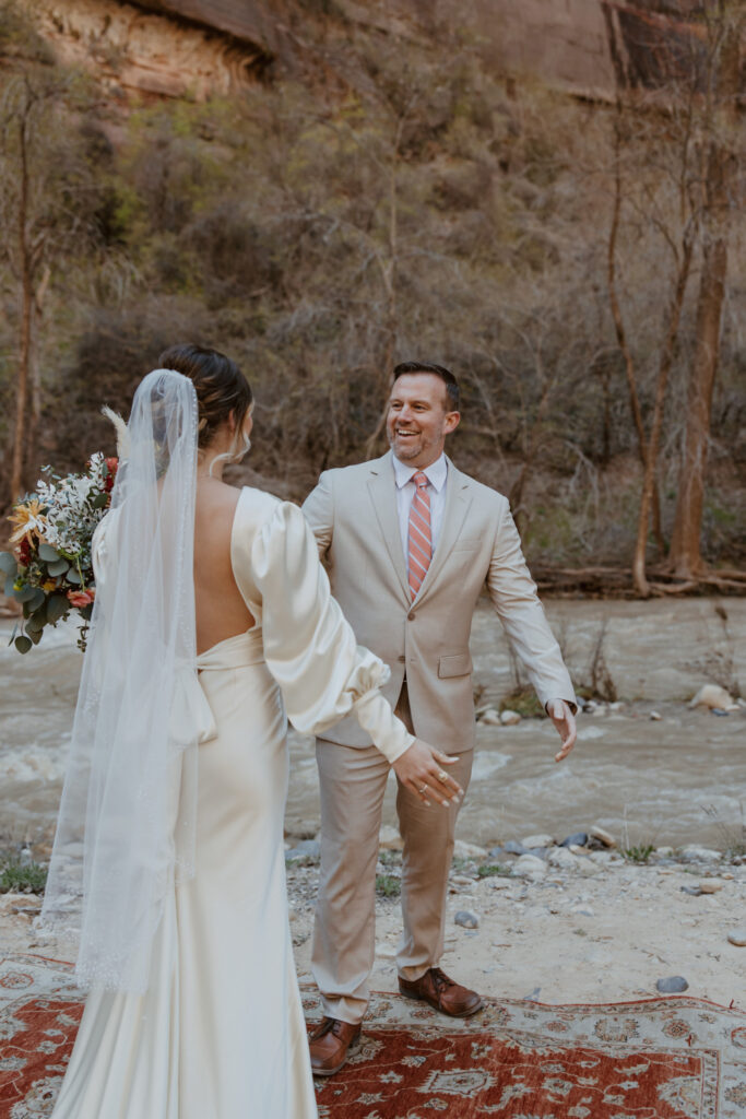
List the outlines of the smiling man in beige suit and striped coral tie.
{"type": "MultiPolygon", "coordinates": [[[[575,743],[576,703],[507,499],[444,453],[459,420],[459,386],[450,370],[398,365],[386,421],[391,452],[325,471],[303,511],[358,641],[391,668],[384,694],[412,733],[456,758],[448,775],[465,790],[474,746],[469,634],[483,586],[559,732],[557,761],[575,743]]],[[[325,1017],[311,1040],[311,1064],[315,1075],[330,1075],[357,1042],[368,1005],[389,764],[352,718],[317,740],[317,761],[321,878],[312,969],[325,1017]]],[[[480,996],[438,967],[459,809],[427,800],[427,787],[417,794],[398,781],[399,990],[465,1017],[480,1009],[480,996]]]]}

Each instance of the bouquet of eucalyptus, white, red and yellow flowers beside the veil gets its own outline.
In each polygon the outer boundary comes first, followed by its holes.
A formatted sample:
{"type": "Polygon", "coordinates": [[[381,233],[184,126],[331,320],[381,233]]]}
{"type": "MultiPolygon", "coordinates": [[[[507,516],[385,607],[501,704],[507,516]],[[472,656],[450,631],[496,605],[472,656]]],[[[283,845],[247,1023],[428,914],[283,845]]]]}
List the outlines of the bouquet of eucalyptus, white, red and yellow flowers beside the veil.
{"type": "Polygon", "coordinates": [[[41,640],[75,610],[83,621],[78,646],[85,649],[87,623],[96,596],[91,544],[112,499],[117,459],[100,451],[84,473],[60,477],[44,467],[36,490],[18,500],[10,515],[13,552],[0,552],[4,593],[23,608],[10,638],[19,652],[41,640]]]}

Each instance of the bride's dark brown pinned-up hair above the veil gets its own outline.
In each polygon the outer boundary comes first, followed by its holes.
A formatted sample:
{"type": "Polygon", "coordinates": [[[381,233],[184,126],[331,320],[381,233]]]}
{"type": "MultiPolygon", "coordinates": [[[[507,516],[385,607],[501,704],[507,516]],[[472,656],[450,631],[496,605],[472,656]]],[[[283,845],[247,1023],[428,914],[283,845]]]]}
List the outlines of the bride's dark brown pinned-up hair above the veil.
{"type": "Polygon", "coordinates": [[[169,346],[158,359],[161,369],[176,369],[189,377],[199,408],[198,445],[208,446],[230,413],[239,429],[254,397],[235,361],[219,350],[183,342],[169,346]]]}

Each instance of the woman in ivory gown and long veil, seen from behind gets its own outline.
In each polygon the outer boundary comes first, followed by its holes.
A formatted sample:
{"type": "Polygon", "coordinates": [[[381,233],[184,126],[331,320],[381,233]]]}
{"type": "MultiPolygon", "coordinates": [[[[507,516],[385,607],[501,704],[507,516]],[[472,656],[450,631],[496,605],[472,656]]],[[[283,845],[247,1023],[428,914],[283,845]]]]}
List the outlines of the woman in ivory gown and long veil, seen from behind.
{"type": "Polygon", "coordinates": [[[423,799],[460,790],[380,695],[388,669],[357,646],[301,511],[221,481],[252,430],[238,368],[195,346],[161,364],[135,393],[93,544],[40,922],[77,937],[89,994],[54,1117],[312,1119],[286,715],[318,734],[353,713],[423,799]]]}

